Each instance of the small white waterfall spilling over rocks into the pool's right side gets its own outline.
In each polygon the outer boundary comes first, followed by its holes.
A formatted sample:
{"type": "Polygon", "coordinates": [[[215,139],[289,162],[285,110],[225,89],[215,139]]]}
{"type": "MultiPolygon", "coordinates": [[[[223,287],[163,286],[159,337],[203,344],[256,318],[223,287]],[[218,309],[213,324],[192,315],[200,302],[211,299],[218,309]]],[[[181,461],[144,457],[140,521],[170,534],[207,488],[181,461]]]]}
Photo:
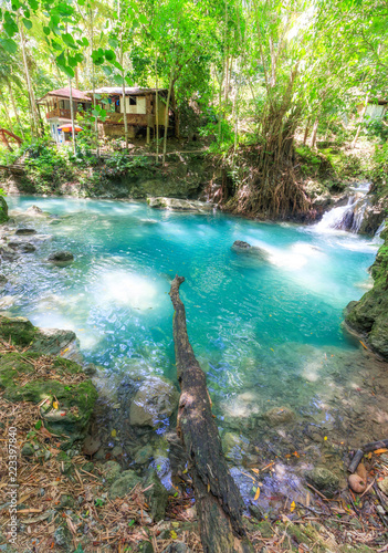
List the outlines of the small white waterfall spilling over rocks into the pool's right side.
{"type": "Polygon", "coordinates": [[[340,206],[327,211],[322,220],[315,226],[321,232],[329,230],[349,230],[350,232],[359,232],[361,228],[365,211],[369,206],[369,184],[361,184],[353,187],[355,192],[349,197],[346,206],[340,206]]]}

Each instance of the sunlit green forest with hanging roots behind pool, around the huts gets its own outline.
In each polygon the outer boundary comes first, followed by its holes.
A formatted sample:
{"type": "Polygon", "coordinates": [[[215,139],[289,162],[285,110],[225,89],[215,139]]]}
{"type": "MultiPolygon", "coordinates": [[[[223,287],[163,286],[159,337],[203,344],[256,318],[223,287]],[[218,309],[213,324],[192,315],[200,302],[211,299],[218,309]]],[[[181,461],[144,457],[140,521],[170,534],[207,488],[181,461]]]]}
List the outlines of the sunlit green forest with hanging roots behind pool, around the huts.
{"type": "MultiPolygon", "coordinates": [[[[388,125],[367,106],[388,98],[387,22],[375,0],[3,2],[0,125],[25,149],[44,136],[36,98],[49,90],[165,87],[181,136],[228,165],[243,211],[304,211],[297,174],[322,166],[318,145],[338,161],[331,142],[349,150],[367,138],[386,177],[388,125]]],[[[95,105],[90,127],[105,116],[95,105]]]]}

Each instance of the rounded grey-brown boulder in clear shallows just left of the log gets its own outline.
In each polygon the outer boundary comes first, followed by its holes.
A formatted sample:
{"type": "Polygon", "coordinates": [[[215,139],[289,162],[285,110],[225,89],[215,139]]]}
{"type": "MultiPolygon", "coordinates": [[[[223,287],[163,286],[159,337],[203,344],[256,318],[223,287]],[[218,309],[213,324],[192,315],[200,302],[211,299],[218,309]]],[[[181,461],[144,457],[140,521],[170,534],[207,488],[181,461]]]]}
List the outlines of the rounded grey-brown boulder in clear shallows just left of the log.
{"type": "Polygon", "coordinates": [[[147,378],[130,403],[129,422],[156,427],[172,415],[178,400],[179,392],[170,380],[160,376],[147,378]]]}

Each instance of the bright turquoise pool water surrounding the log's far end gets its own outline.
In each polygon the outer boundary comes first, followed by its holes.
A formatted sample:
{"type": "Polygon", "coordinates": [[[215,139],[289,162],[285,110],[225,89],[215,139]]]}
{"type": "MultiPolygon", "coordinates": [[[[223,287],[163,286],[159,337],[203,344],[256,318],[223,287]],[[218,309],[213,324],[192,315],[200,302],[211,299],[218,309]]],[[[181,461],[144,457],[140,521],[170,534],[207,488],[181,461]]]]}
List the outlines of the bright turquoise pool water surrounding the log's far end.
{"type": "Polygon", "coordinates": [[[343,334],[342,312],[367,290],[377,251],[369,239],[141,202],[8,200],[11,209],[36,205],[61,217],[60,225],[25,225],[53,238],[12,269],[11,311],[74,330],[85,357],[109,372],[140,366],[175,378],[168,291],[176,273],[186,278],[190,341],[224,415],[269,398],[314,406],[322,359],[356,347],[343,334]],[[237,253],[235,240],[265,249],[269,259],[237,253]],[[61,249],[74,253],[72,265],[45,263],[61,249]]]}

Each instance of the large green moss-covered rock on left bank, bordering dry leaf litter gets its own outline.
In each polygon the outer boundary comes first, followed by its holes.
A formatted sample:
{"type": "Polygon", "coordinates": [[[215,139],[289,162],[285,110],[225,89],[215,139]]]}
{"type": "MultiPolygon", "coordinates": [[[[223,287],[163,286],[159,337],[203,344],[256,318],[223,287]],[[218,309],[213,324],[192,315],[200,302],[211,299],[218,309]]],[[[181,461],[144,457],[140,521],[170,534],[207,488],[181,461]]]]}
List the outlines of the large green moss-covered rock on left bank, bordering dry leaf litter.
{"type": "Polygon", "coordinates": [[[59,379],[43,379],[28,382],[21,386],[18,377],[28,377],[34,372],[31,362],[40,357],[39,353],[27,352],[8,353],[0,357],[0,389],[6,389],[6,398],[10,401],[41,403],[49,398],[51,401],[56,397],[60,408],[41,408],[41,416],[45,426],[53,434],[65,434],[73,439],[81,437],[93,413],[97,399],[97,392],[93,383],[87,379],[77,384],[67,385],[66,375],[82,373],[82,367],[76,363],[56,357],[53,359],[52,369],[59,375],[59,379]]]}

